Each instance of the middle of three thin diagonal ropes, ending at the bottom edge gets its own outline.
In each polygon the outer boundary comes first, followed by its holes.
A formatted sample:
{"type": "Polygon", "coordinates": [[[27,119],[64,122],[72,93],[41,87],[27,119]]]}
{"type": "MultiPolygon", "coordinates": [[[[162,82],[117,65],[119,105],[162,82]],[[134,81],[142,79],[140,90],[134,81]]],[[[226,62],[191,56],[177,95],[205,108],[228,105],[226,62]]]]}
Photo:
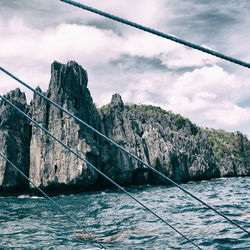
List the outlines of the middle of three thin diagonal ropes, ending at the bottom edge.
{"type": "Polygon", "coordinates": [[[65,143],[63,143],[60,139],[56,138],[52,133],[50,133],[47,129],[42,127],[40,124],[38,124],[35,120],[33,120],[30,116],[28,116],[26,113],[24,113],[22,110],[20,110],[16,105],[14,105],[12,102],[7,100],[5,97],[0,95],[0,98],[11,105],[13,108],[15,108],[20,114],[25,116],[29,121],[31,121],[36,127],[40,128],[43,132],[48,134],[51,138],[53,138],[55,141],[57,141],[59,144],[61,144],[64,148],[66,148],[68,151],[70,151],[72,154],[74,154],[77,158],[82,160],[84,163],[86,163],[89,167],[94,169],[98,174],[100,174],[102,177],[104,177],[106,180],[108,180],[110,183],[112,183],[114,186],[116,186],[118,189],[120,189],[122,192],[127,194],[130,198],[132,198],[136,203],[138,203],[141,207],[143,207],[146,211],[153,214],[156,218],[158,218],[160,221],[165,223],[167,226],[169,226],[171,229],[173,229],[176,233],[181,235],[185,240],[187,240],[189,243],[193,244],[193,246],[197,247],[198,249],[201,249],[195,242],[190,240],[187,236],[185,236],[183,233],[181,233],[178,229],[176,229],[174,226],[169,224],[166,220],[164,220],[160,215],[156,214],[153,210],[148,208],[146,205],[144,205],[141,201],[139,201],[137,198],[135,198],[132,194],[130,194],[127,190],[125,190],[122,186],[117,184],[115,181],[113,181],[111,178],[109,178],[107,175],[105,175],[101,170],[96,168],[93,164],[91,164],[89,161],[87,161],[85,158],[83,158],[81,155],[76,153],[73,149],[71,149],[69,146],[67,146],[65,143]]]}

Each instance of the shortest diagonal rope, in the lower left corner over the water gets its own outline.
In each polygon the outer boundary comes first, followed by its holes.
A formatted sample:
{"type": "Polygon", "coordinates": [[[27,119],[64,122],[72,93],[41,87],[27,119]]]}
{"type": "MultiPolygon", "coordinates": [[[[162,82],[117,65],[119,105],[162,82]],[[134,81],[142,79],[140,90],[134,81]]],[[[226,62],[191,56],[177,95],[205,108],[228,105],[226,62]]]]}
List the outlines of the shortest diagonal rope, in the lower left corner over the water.
{"type": "Polygon", "coordinates": [[[95,239],[95,237],[89,233],[79,222],[77,222],[69,213],[67,213],[61,206],[57,204],[52,198],[50,198],[41,188],[39,188],[31,179],[29,179],[14,163],[12,163],[7,157],[5,157],[1,152],[0,156],[8,162],[13,168],[15,168],[27,181],[29,181],[39,192],[46,197],[51,203],[53,203],[62,213],[64,213],[71,221],[73,221],[77,226],[81,228],[93,241],[96,242],[102,249],[105,249],[104,246],[95,239]]]}

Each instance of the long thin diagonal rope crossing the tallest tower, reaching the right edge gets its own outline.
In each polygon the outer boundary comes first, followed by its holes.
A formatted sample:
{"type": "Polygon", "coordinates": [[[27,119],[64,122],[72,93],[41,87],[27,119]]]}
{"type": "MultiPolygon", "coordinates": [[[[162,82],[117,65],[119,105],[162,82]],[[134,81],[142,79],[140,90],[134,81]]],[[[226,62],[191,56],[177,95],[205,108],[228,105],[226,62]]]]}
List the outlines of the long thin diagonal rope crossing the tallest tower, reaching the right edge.
{"type": "Polygon", "coordinates": [[[9,75],[11,78],[13,78],[16,81],[18,81],[19,83],[21,83],[26,88],[30,89],[33,93],[35,93],[35,94],[39,95],[40,97],[44,98],[45,100],[47,100],[52,105],[54,105],[55,107],[57,107],[58,109],[60,109],[61,111],[63,111],[67,115],[69,115],[70,117],[74,118],[77,122],[79,122],[82,125],[86,126],[88,129],[90,129],[91,131],[93,131],[94,133],[96,133],[97,135],[99,135],[100,137],[102,137],[103,139],[105,139],[106,141],[108,141],[113,146],[115,146],[118,149],[120,149],[125,154],[129,155],[131,158],[137,160],[138,162],[140,162],[141,164],[143,164],[144,166],[146,166],[147,168],[149,168],[155,174],[161,176],[165,181],[167,181],[167,182],[171,183],[172,185],[176,186],[177,188],[181,189],[183,192],[185,192],[186,194],[188,194],[193,199],[197,200],[198,202],[200,202],[201,204],[203,204],[204,206],[206,206],[210,210],[214,211],[215,213],[217,213],[219,216],[223,217],[225,220],[227,220],[231,224],[237,226],[239,229],[243,230],[247,234],[250,234],[250,232],[248,230],[246,230],[245,228],[243,228],[242,226],[240,226],[238,223],[236,223],[235,221],[231,220],[230,218],[228,218],[227,216],[225,216],[224,214],[222,214],[221,212],[219,212],[217,209],[213,208],[212,206],[210,206],[209,204],[207,204],[205,201],[201,200],[199,197],[197,197],[196,195],[192,194],[190,191],[188,191],[187,189],[185,189],[184,187],[182,187],[181,185],[179,185],[175,181],[171,180],[166,175],[164,175],[161,172],[159,172],[158,170],[154,169],[150,164],[148,164],[145,161],[141,160],[136,155],[130,153],[128,150],[126,150],[125,148],[121,147],[118,143],[116,143],[115,141],[111,140],[110,138],[108,138],[107,136],[105,136],[104,134],[102,134],[101,132],[99,132],[98,130],[96,130],[95,128],[93,128],[92,126],[90,126],[89,124],[87,124],[86,122],[84,122],[83,120],[81,120],[80,118],[78,118],[77,116],[75,116],[74,114],[72,114],[71,112],[67,111],[66,109],[64,109],[63,107],[61,107],[57,103],[55,103],[54,101],[50,100],[47,96],[45,96],[42,93],[40,93],[39,91],[33,89],[31,86],[29,86],[28,84],[26,84],[25,82],[23,82],[22,80],[20,80],[19,78],[17,78],[16,76],[14,76],[13,74],[11,74],[10,72],[8,72],[7,70],[3,69],[2,67],[0,67],[0,70],[3,71],[5,74],[9,75]]]}

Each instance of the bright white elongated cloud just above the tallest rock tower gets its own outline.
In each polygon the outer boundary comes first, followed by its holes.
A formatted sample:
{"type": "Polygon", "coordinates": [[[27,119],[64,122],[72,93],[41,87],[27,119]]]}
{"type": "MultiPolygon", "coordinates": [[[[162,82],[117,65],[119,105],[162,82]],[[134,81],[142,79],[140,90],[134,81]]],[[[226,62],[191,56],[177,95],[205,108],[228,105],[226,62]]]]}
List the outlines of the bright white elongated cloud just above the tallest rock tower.
{"type": "MultiPolygon", "coordinates": [[[[105,63],[115,53],[110,41],[119,40],[112,31],[98,30],[95,27],[61,24],[56,28],[37,30],[27,27],[17,18],[12,19],[1,33],[1,57],[46,62],[57,58],[63,61],[75,58],[88,63],[105,63]]],[[[117,42],[119,43],[115,43],[117,42]]]]}

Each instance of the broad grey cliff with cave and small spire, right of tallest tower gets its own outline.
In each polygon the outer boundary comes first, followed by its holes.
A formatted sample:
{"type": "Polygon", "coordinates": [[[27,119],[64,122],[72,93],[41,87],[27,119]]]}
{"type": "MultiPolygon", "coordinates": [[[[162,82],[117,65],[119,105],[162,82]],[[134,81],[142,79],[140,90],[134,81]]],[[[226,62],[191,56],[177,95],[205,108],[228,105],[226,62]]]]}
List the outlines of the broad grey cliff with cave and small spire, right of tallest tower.
{"type": "MultiPolygon", "coordinates": [[[[101,114],[109,138],[171,179],[186,182],[220,176],[207,137],[195,125],[186,122],[179,127],[180,122],[176,123],[167,112],[156,107],[124,106],[119,95],[113,96],[101,114]]],[[[104,166],[114,179],[128,183],[164,183],[124,153],[116,149],[109,152],[104,166]]]]}

